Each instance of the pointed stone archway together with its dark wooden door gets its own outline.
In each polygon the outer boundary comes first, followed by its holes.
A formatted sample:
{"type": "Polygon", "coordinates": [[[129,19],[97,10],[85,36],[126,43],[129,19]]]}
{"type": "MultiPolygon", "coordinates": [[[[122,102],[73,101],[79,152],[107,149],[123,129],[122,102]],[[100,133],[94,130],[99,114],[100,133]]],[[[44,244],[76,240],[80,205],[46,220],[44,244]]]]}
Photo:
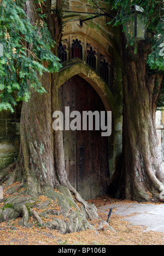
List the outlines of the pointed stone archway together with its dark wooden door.
{"type": "MultiPolygon", "coordinates": [[[[71,66],[61,70],[58,87],[60,98],[62,97],[63,112],[64,105],[70,106],[70,104],[71,111],[78,109],[88,111],[89,109],[84,108],[86,103],[90,102],[89,108],[99,111],[112,110],[113,121],[118,118],[117,105],[109,87],[83,62],[76,60],[71,66]],[[76,84],[81,84],[83,90],[79,88],[77,90],[76,84]],[[80,94],[79,97],[77,93],[80,94]],[[78,98],[80,105],[75,103],[77,101],[75,98],[78,98]],[[97,102],[98,108],[91,102],[97,102]],[[75,109],[75,106],[78,109],[75,109]]],[[[113,161],[113,136],[101,138],[101,132],[63,131],[63,143],[68,180],[81,196],[89,199],[106,193],[109,168],[113,171],[109,164],[109,159],[113,161]]]]}

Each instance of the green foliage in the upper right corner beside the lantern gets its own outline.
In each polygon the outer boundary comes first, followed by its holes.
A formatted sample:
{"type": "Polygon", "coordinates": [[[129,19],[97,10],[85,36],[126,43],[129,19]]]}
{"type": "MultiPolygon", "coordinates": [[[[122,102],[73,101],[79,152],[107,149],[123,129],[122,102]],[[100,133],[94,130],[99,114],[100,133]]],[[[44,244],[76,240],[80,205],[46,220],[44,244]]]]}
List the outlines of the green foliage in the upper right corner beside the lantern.
{"type": "MultiPolygon", "coordinates": [[[[122,25],[122,31],[125,30],[125,23],[128,23],[128,38],[127,44],[131,46],[135,43],[135,39],[131,36],[131,24],[133,23],[133,16],[131,7],[136,4],[143,8],[143,13],[140,16],[146,17],[146,29],[151,37],[153,45],[152,52],[148,57],[148,64],[151,69],[164,70],[164,57],[160,55],[160,44],[164,42],[164,4],[163,0],[106,0],[108,4],[112,5],[112,11],[115,13],[115,19],[112,21],[115,25],[122,25]]],[[[150,38],[149,38],[150,40],[150,38]]]]}

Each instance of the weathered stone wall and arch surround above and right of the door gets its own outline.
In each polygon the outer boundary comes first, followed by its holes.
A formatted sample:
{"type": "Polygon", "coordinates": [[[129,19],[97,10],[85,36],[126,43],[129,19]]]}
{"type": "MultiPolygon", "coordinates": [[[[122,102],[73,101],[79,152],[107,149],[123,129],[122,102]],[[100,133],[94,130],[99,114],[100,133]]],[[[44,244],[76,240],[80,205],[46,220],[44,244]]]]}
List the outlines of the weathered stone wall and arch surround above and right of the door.
{"type": "MultiPolygon", "coordinates": [[[[106,9],[104,5],[103,8],[106,9]]],[[[95,13],[97,8],[92,8],[84,0],[67,1],[67,7],[64,20],[66,21],[63,28],[63,38],[68,36],[78,36],[80,40],[86,38],[92,45],[96,46],[104,53],[109,55],[113,62],[113,77],[112,88],[109,88],[104,82],[97,70],[93,70],[82,60],[73,60],[68,58],[66,63],[63,63],[63,69],[60,71],[59,86],[67,79],[74,75],[83,77],[89,84],[95,88],[96,92],[102,99],[106,110],[112,110],[113,114],[113,128],[112,135],[109,136],[109,171],[110,178],[112,179],[113,173],[120,164],[122,154],[122,74],[121,62],[119,54],[119,28],[106,25],[106,17],[93,19],[92,21],[84,21],[83,27],[79,26],[79,20],[88,18],[87,12],[95,13]],[[68,4],[69,2],[69,4],[68,4]],[[71,12],[84,12],[84,13],[71,13],[71,12]],[[92,24],[92,25],[91,25],[92,24]],[[90,26],[91,25],[91,26],[90,26]],[[98,25],[98,26],[97,26],[98,25]]],[[[91,16],[91,15],[90,15],[91,16]]],[[[69,37],[70,38],[70,37],[69,37]]],[[[70,39],[67,39],[69,47],[71,45],[70,39]]],[[[65,41],[66,43],[66,41],[65,41]]],[[[68,51],[69,51],[68,47],[68,51]]]]}

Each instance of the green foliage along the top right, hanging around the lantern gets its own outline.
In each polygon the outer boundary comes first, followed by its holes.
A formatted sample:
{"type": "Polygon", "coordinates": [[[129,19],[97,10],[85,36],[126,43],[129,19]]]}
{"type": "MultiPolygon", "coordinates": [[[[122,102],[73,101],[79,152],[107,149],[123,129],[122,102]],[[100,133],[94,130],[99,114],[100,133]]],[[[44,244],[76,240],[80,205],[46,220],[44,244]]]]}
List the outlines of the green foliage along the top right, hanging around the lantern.
{"type": "MultiPolygon", "coordinates": [[[[92,4],[106,3],[109,7],[109,13],[115,18],[108,24],[113,26],[121,25],[122,32],[125,30],[125,24],[128,25],[127,46],[134,46],[134,53],[137,54],[137,40],[132,36],[132,5],[136,4],[143,8],[140,16],[146,17],[147,42],[151,45],[151,51],[148,55],[147,64],[153,73],[163,75],[164,71],[164,2],[163,0],[89,0],[92,4]]],[[[157,107],[163,107],[164,86],[162,85],[157,107]]]]}

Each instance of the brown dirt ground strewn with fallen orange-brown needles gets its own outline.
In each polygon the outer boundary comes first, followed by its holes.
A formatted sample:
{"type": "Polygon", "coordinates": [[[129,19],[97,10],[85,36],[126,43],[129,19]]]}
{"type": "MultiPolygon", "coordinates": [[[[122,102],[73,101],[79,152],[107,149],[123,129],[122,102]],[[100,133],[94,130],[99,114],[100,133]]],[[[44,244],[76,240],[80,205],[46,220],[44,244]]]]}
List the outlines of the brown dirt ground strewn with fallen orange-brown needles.
{"type": "MultiPolygon", "coordinates": [[[[115,203],[129,204],[137,203],[128,200],[118,200],[109,196],[97,197],[89,201],[97,207],[104,204],[115,203]]],[[[99,216],[107,221],[108,212],[99,213],[99,216]]],[[[127,217],[127,216],[126,216],[127,217]]],[[[76,233],[61,235],[56,230],[49,230],[46,227],[39,227],[37,221],[32,221],[31,228],[20,227],[16,221],[3,222],[0,224],[0,245],[163,245],[164,233],[147,231],[144,227],[133,226],[124,220],[125,217],[115,215],[114,208],[110,216],[109,224],[114,231],[104,229],[98,232],[86,230],[76,233]]],[[[92,221],[97,227],[98,221],[92,221]]]]}

